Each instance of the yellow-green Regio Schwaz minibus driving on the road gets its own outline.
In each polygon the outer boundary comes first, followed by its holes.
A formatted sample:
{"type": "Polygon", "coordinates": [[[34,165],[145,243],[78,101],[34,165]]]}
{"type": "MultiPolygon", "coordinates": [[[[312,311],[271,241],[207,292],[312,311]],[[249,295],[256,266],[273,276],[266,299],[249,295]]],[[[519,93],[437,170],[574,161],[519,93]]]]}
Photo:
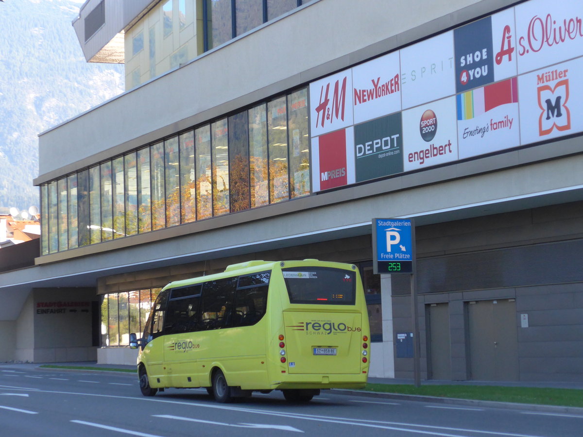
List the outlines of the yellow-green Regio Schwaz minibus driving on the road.
{"type": "Polygon", "coordinates": [[[364,387],[370,329],[356,266],[259,261],[174,281],[158,295],[139,347],[142,394],[206,387],[219,402],[282,390],[364,387]]]}

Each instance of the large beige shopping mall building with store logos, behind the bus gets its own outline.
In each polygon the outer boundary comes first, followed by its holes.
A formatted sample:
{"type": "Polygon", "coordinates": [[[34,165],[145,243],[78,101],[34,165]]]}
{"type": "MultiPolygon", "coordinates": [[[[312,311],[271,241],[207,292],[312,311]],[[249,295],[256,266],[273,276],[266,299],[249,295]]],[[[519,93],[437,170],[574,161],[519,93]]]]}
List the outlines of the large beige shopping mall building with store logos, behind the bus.
{"type": "Polygon", "coordinates": [[[0,361],[133,364],[169,281],[317,258],[360,269],[370,375],[412,378],[371,220],[413,218],[423,379],[583,381],[580,0],[87,0],[73,27],[127,90],[40,134],[0,361]]]}

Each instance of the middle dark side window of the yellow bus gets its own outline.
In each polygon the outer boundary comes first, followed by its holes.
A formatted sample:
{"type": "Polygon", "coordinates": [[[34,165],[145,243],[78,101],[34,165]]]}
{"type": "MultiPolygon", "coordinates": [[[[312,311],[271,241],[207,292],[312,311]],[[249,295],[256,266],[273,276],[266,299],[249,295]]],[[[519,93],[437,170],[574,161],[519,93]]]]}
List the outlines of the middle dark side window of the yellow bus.
{"type": "Polygon", "coordinates": [[[231,325],[237,277],[205,282],[202,286],[198,329],[219,329],[231,325]]]}

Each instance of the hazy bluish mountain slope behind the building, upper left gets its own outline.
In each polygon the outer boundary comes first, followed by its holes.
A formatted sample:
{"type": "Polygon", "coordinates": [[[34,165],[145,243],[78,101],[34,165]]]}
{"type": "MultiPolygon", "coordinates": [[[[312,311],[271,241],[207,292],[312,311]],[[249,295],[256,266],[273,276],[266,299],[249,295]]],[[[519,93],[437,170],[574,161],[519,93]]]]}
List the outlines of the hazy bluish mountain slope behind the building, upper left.
{"type": "Polygon", "coordinates": [[[39,205],[37,135],[123,91],[123,65],[88,64],[79,1],[0,3],[0,212],[39,205]]]}

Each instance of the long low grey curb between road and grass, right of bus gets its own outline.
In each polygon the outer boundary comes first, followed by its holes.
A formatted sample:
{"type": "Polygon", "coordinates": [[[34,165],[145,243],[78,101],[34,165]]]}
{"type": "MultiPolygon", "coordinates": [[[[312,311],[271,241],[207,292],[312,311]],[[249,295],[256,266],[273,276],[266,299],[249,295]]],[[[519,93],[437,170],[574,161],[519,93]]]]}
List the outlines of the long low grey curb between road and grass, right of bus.
{"type": "Polygon", "coordinates": [[[540,411],[555,414],[576,414],[583,417],[583,408],[563,407],[555,405],[520,404],[514,402],[497,402],[475,399],[459,399],[456,397],[419,396],[416,394],[363,392],[360,390],[331,389],[331,394],[349,394],[350,396],[377,397],[379,399],[395,399],[406,401],[422,401],[436,404],[463,405],[470,407],[504,408],[505,410],[540,411]]]}

